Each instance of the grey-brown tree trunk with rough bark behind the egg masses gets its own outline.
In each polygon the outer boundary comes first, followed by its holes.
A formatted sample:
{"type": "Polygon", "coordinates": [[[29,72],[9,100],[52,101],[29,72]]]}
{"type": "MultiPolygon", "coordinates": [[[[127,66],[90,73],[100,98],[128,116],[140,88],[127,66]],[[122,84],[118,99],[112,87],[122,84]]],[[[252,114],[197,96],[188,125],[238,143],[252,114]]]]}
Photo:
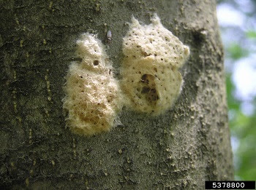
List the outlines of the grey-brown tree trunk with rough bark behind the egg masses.
{"type": "Polygon", "coordinates": [[[1,1],[1,189],[203,189],[232,180],[223,50],[216,2],[1,1]],[[123,125],[92,137],[72,133],[62,108],[64,76],[80,33],[112,31],[108,55],[120,68],[132,15],[157,12],[190,47],[172,110],[124,108],[123,125]]]}

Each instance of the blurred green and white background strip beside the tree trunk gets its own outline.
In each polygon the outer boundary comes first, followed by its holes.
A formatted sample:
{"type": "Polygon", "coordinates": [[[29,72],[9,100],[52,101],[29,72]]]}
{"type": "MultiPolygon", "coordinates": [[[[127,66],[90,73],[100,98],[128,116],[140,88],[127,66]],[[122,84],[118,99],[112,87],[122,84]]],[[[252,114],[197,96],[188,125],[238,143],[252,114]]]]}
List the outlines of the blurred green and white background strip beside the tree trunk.
{"type": "Polygon", "coordinates": [[[256,180],[256,0],[219,0],[236,180],[256,180]]]}

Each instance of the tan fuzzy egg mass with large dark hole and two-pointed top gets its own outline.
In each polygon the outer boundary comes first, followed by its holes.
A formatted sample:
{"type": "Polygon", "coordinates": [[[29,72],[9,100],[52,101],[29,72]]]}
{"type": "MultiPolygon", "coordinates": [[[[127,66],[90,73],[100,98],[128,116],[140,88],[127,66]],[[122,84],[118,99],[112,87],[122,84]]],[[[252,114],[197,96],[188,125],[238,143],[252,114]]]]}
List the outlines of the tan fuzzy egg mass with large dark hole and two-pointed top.
{"type": "Polygon", "coordinates": [[[154,15],[150,25],[140,25],[132,18],[124,37],[121,89],[129,107],[162,114],[170,108],[181,91],[178,68],[189,56],[189,47],[160,23],[154,15]]]}

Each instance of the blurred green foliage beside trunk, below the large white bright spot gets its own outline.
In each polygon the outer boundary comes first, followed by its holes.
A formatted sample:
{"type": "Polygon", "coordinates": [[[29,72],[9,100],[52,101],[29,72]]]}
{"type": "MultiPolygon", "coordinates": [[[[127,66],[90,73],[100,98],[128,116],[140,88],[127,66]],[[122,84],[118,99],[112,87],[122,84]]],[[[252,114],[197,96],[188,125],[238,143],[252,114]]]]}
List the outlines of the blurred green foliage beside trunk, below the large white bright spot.
{"type": "MultiPolygon", "coordinates": [[[[230,74],[227,74],[227,104],[231,113],[229,124],[231,134],[238,139],[238,149],[234,157],[238,160],[235,163],[236,178],[242,180],[256,179],[256,114],[246,116],[241,111],[241,101],[233,96],[235,90],[230,74]]],[[[256,103],[254,102],[256,106],[256,103]]]]}

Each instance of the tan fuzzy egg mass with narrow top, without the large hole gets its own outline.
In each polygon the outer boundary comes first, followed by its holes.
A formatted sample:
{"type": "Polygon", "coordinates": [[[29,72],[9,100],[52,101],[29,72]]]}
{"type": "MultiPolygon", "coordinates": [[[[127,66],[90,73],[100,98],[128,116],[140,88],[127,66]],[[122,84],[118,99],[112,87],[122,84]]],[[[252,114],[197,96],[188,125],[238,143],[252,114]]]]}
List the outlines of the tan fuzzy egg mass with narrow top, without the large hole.
{"type": "Polygon", "coordinates": [[[109,131],[121,109],[121,92],[108,55],[96,36],[84,33],[77,41],[80,63],[72,63],[64,87],[63,107],[73,132],[94,135],[109,131]]]}

